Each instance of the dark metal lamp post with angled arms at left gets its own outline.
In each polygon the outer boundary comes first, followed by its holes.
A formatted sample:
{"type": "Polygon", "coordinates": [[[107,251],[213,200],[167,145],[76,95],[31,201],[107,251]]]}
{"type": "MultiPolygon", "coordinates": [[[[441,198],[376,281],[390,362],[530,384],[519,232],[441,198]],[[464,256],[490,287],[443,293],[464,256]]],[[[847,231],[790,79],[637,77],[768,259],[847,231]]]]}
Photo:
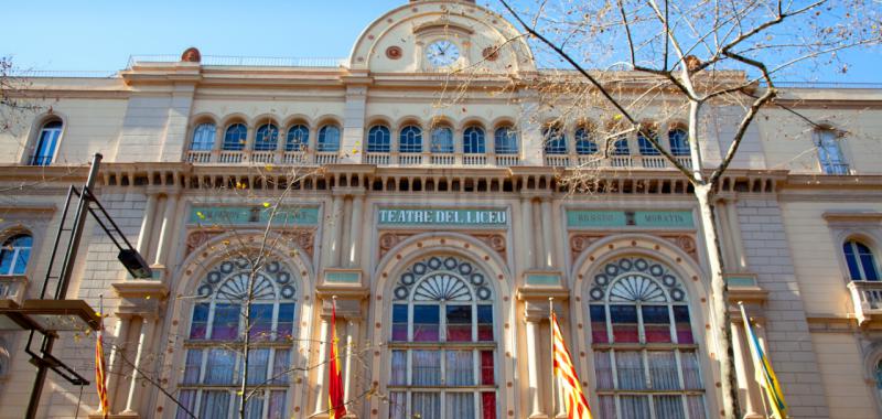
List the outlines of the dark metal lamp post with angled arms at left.
{"type": "Polygon", "coordinates": [[[0,301],[0,329],[31,331],[28,337],[25,352],[31,355],[31,363],[36,366],[36,378],[34,378],[31,398],[28,402],[28,412],[25,416],[28,419],[36,417],[36,409],[40,406],[40,396],[43,393],[43,386],[46,383],[49,369],[58,373],[74,385],[84,386],[89,384],[87,379],[83,378],[73,368],[52,355],[53,346],[58,337],[58,331],[75,331],[85,327],[98,330],[98,327],[100,327],[99,315],[96,314],[95,310],[85,301],[66,299],[67,287],[69,286],[71,276],[74,271],[74,261],[76,260],[87,213],[95,217],[98,225],[100,225],[117,246],[119,249],[117,258],[132,277],[152,277],[150,267],[147,265],[143,257],[135,250],[92,192],[95,186],[100,163],[101,154],[95,153],[83,191],[77,191],[77,189],[72,185],[67,192],[67,200],[64,204],[64,211],[62,212],[58,232],[55,235],[55,245],[52,250],[52,256],[50,257],[43,288],[40,292],[40,299],[26,300],[22,305],[10,300],[0,301]],[[64,228],[65,221],[74,195],[77,195],[79,200],[74,213],[73,227],[67,229],[64,228]],[[92,204],[95,204],[95,207],[93,207],[92,204]],[[60,270],[61,273],[58,273],[57,277],[53,277],[53,265],[64,232],[69,232],[71,235],[67,239],[67,248],[64,253],[64,259],[60,270]],[[53,278],[57,280],[55,294],[54,298],[46,299],[46,288],[49,287],[50,280],[53,278]],[[40,353],[31,350],[31,343],[33,342],[35,332],[42,335],[40,353]]]}

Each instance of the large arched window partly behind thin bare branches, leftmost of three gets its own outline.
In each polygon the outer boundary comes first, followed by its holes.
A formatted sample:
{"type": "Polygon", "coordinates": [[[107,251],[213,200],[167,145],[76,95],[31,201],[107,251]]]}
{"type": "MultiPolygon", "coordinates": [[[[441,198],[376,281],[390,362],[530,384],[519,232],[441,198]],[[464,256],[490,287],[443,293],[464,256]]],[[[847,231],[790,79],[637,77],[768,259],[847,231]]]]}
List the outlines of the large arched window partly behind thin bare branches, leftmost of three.
{"type": "MultiPolygon", "coordinates": [[[[243,351],[236,348],[246,333],[251,343],[247,384],[257,391],[246,404],[247,417],[288,417],[292,342],[297,336],[295,283],[295,275],[279,261],[252,270],[243,259],[224,260],[202,279],[179,385],[181,402],[197,417],[235,416],[245,359],[243,351]],[[249,283],[250,273],[255,273],[254,283],[249,283]],[[246,304],[249,289],[254,290],[254,300],[246,304]],[[246,314],[250,319],[248,330],[244,326],[246,314]]],[[[183,409],[179,417],[182,413],[183,409]]]]}

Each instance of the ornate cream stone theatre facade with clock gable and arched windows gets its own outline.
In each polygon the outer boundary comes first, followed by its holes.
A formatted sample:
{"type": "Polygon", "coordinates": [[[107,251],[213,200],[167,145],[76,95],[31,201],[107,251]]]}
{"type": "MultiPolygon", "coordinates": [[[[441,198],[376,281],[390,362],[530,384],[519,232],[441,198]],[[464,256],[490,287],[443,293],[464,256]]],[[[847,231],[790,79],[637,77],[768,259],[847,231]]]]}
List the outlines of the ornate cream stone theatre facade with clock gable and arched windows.
{"type": "MultiPolygon", "coordinates": [[[[0,293],[39,296],[66,189],[100,152],[97,196],[154,272],[128,276],[87,224],[67,297],[104,298],[111,417],[233,417],[245,335],[248,417],[326,417],[334,302],[353,417],[557,417],[549,299],[596,417],[721,417],[688,182],[638,136],[601,157],[590,123],[549,126],[560,115],[525,82],[544,71],[516,35],[473,2],[411,1],[344,61],[191,49],[107,78],[30,78],[17,95],[36,107],[0,133],[0,293]],[[450,87],[471,65],[481,75],[450,87]],[[561,176],[585,165],[599,186],[569,193],[561,176]]],[[[824,125],[764,110],[724,175],[733,313],[742,301],[757,321],[793,417],[876,418],[882,89],[782,100],[824,125]]],[[[736,116],[710,111],[709,166],[736,116]]],[[[691,164],[681,120],[656,122],[691,164]]],[[[745,417],[765,417],[738,318],[732,331],[745,417]]],[[[94,337],[62,342],[90,376],[94,337]]],[[[24,415],[25,344],[0,334],[0,418],[24,415]]],[[[39,417],[96,408],[94,388],[51,375],[39,417]]]]}

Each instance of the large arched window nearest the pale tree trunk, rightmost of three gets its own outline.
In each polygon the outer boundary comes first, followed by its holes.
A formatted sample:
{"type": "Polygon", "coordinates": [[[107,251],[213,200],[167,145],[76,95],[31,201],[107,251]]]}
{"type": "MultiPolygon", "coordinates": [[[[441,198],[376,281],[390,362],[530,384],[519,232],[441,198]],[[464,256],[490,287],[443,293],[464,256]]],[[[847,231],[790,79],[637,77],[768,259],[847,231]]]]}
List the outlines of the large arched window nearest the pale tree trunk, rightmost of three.
{"type": "Polygon", "coordinates": [[[706,418],[688,294],[669,268],[644,257],[610,261],[589,290],[602,418],[706,418]]]}

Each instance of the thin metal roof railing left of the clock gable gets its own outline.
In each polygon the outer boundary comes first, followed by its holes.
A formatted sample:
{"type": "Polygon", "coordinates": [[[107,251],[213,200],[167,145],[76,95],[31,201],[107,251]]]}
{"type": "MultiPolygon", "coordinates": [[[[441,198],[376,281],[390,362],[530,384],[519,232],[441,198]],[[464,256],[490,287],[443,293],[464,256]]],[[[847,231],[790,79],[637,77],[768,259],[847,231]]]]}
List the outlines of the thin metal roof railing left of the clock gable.
{"type": "MultiPolygon", "coordinates": [[[[178,63],[179,55],[132,55],[128,68],[138,63],[178,63]]],[[[348,58],[338,57],[280,57],[280,56],[233,56],[203,55],[203,66],[243,66],[243,67],[340,67],[345,66],[348,58]]]]}

